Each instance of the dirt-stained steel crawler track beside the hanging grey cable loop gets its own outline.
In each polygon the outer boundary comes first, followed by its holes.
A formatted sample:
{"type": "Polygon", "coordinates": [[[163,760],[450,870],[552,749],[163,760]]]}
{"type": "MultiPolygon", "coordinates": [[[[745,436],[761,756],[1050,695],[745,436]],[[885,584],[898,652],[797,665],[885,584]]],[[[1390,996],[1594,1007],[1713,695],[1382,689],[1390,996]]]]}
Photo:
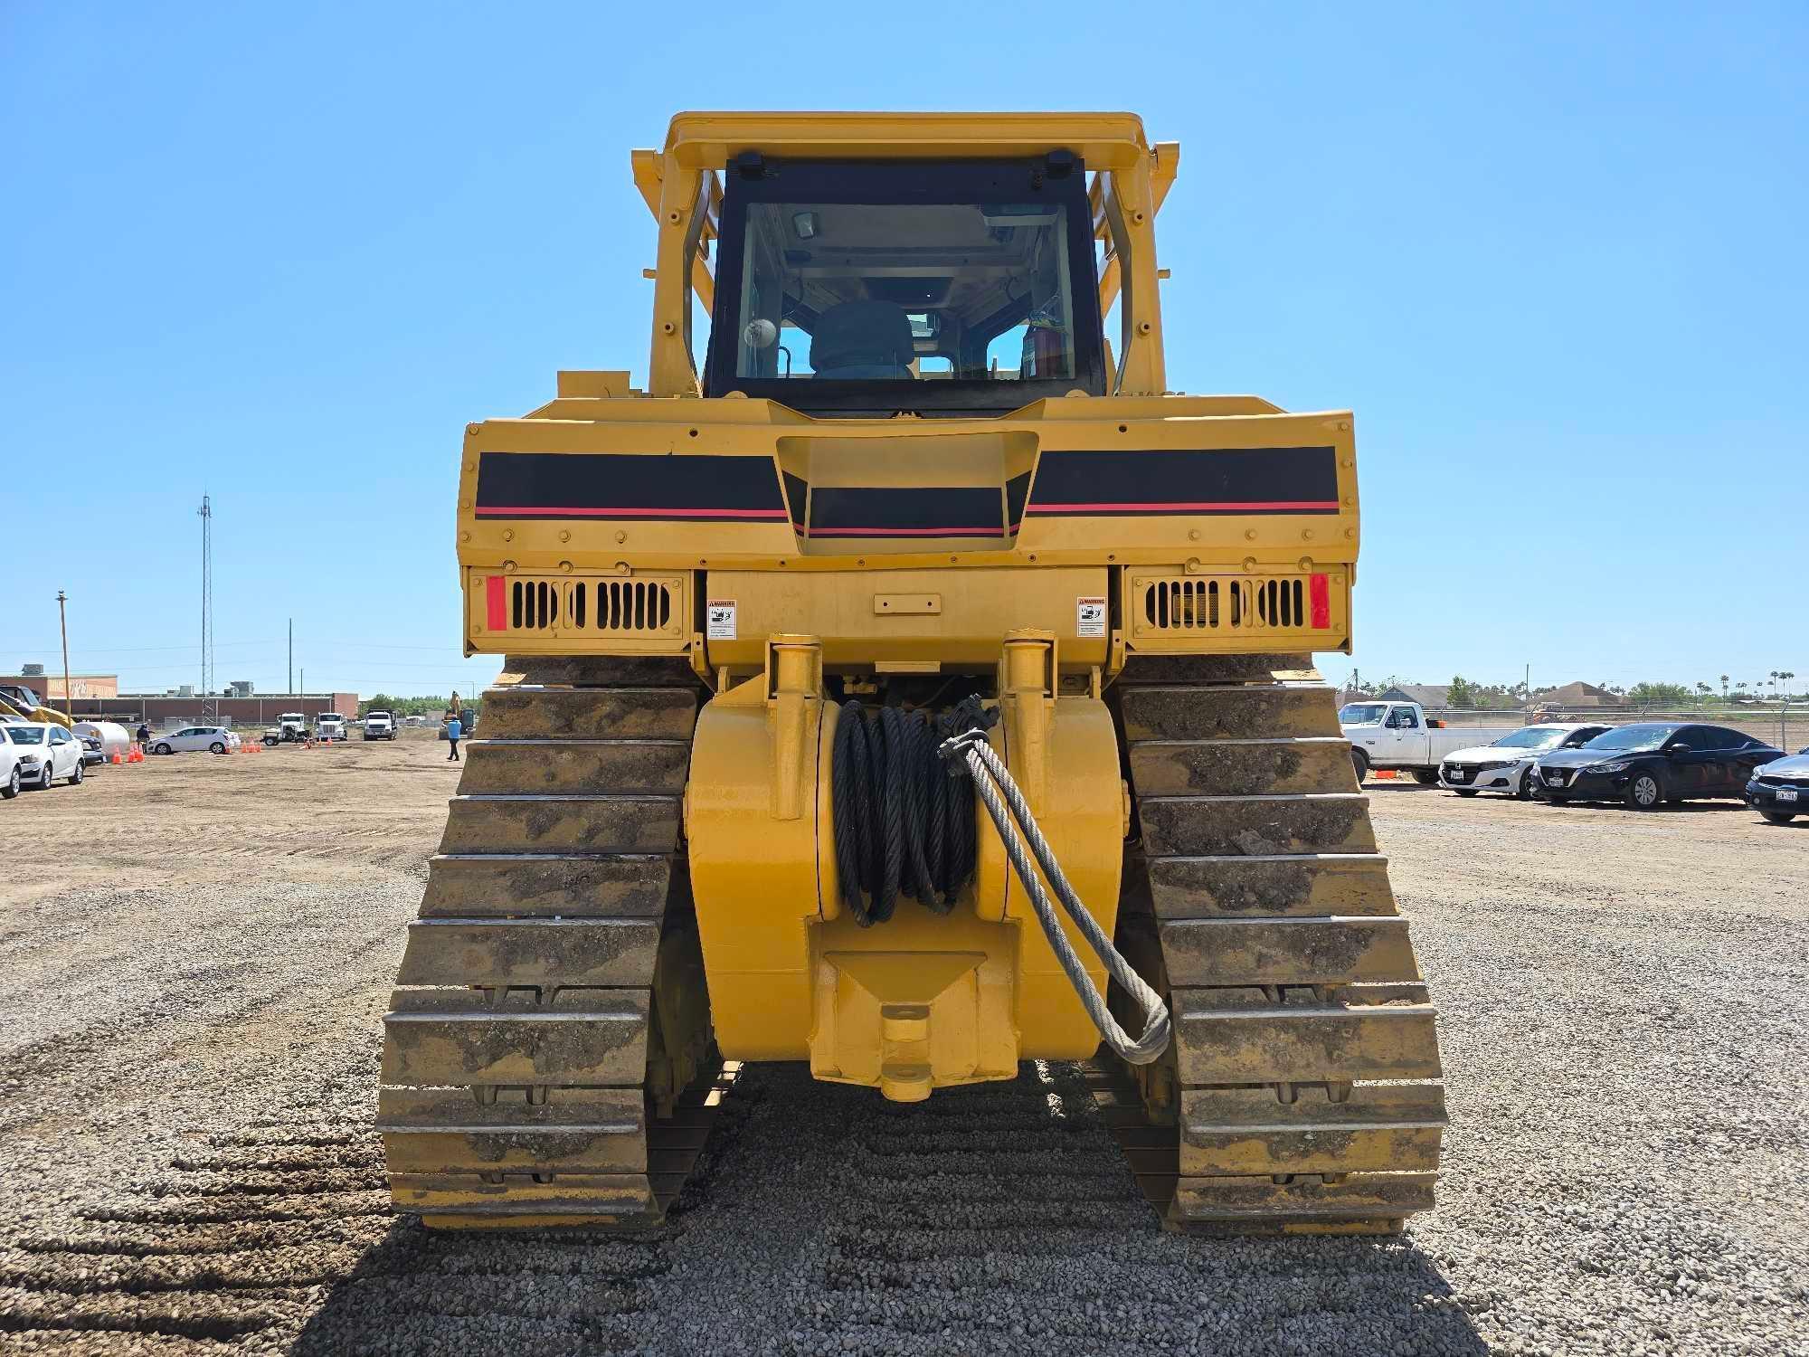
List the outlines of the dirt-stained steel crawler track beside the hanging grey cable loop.
{"type": "Polygon", "coordinates": [[[1118,946],[1174,1011],[1094,1100],[1174,1229],[1393,1232],[1433,1205],[1435,1010],[1310,657],[1132,659],[1118,946]]]}

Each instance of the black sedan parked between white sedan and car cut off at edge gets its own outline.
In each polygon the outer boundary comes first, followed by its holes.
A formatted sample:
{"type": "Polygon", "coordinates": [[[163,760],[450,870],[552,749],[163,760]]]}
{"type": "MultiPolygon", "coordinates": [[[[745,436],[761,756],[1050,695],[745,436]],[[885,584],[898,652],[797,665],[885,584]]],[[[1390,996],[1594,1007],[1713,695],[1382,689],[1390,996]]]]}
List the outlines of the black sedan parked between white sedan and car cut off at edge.
{"type": "Polygon", "coordinates": [[[1635,811],[1700,796],[1744,800],[1753,769],[1782,753],[1724,726],[1617,726],[1581,749],[1545,754],[1538,794],[1547,802],[1626,802],[1635,811]]]}

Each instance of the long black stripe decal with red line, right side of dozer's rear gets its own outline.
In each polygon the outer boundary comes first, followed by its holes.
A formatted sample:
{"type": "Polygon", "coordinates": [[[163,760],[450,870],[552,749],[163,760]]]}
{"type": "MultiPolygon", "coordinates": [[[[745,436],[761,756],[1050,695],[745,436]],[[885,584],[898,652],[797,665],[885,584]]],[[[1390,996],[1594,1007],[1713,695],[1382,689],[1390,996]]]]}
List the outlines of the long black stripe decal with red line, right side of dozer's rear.
{"type": "Polygon", "coordinates": [[[1044,452],[1026,512],[1337,514],[1337,449],[1044,452]]]}

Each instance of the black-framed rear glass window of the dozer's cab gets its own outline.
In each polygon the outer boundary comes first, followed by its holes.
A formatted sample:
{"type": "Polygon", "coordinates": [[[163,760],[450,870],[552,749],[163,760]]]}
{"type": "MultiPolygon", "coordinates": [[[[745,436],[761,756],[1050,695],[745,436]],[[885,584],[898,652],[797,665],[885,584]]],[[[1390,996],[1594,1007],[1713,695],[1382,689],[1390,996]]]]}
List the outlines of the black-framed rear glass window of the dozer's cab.
{"type": "Polygon", "coordinates": [[[713,396],[857,413],[1105,389],[1073,159],[731,165],[718,271],[713,396]]]}

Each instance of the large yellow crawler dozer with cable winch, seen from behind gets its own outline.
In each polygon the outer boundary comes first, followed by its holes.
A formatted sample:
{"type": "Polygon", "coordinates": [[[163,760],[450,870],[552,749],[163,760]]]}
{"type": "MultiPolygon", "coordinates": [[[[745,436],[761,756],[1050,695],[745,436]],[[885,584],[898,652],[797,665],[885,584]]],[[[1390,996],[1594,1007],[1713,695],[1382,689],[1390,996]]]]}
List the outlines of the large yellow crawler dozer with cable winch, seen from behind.
{"type": "Polygon", "coordinates": [[[1176,161],[1125,114],[633,154],[646,389],[465,436],[507,660],[385,1019],[398,1207],[655,1223],[749,1060],[904,1102],[1091,1060],[1172,1227],[1431,1207],[1435,1015],[1310,659],[1351,414],[1167,389],[1176,161]]]}

